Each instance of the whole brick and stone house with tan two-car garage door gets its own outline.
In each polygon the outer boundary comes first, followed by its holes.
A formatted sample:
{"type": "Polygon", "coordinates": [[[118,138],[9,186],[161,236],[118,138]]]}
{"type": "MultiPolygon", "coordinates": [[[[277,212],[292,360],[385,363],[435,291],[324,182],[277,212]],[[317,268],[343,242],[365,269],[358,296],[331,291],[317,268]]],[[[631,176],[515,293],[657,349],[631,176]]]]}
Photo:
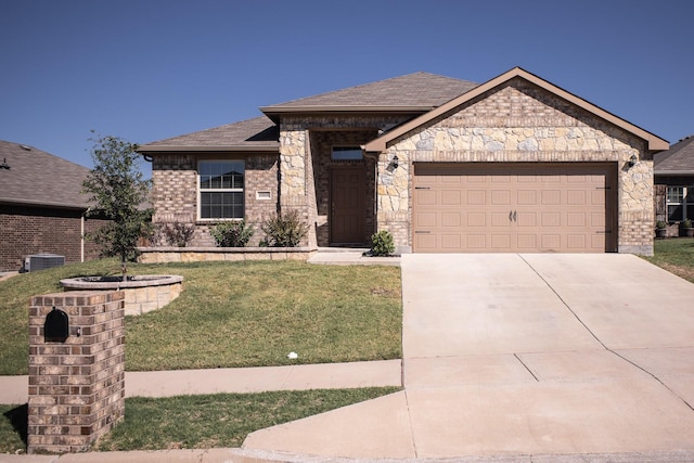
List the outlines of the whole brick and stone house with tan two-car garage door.
{"type": "Polygon", "coordinates": [[[259,224],[297,210],[308,246],[653,253],[668,143],[518,67],[483,85],[415,73],[152,142],[155,222],[259,224]]]}

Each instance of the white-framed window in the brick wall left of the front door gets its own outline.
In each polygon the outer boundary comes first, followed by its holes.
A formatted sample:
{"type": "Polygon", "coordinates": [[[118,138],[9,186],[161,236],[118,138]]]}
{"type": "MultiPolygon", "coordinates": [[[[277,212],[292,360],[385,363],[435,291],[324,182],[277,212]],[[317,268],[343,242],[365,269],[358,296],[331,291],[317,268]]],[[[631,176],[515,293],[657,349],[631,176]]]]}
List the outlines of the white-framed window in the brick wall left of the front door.
{"type": "Polygon", "coordinates": [[[198,217],[244,218],[243,160],[201,160],[197,164],[198,217]]]}

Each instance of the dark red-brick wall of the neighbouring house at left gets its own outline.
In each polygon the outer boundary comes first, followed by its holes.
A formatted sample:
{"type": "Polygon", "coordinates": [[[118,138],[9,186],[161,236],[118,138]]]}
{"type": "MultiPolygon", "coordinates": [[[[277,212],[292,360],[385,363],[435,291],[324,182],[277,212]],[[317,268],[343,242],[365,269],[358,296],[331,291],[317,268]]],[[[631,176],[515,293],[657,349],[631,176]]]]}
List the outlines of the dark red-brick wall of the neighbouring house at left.
{"type": "MultiPolygon", "coordinates": [[[[0,206],[0,271],[16,271],[24,258],[50,253],[65,256],[65,263],[81,260],[82,210],[49,207],[0,206]]],[[[104,224],[98,219],[85,220],[85,232],[104,224]]],[[[99,257],[100,248],[85,241],[85,260],[99,257]]]]}

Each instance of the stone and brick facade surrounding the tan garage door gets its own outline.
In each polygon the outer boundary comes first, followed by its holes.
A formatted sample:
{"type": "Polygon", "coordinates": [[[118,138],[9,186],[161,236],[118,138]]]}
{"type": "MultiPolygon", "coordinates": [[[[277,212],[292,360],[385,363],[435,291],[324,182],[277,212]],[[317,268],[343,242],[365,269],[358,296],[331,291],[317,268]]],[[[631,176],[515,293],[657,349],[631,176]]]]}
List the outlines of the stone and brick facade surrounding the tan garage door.
{"type": "Polygon", "coordinates": [[[615,163],[618,250],[653,254],[653,159],[645,142],[520,78],[394,140],[378,159],[377,222],[411,246],[413,163],[615,163]],[[400,167],[388,169],[394,156],[400,167]],[[635,155],[637,165],[628,167],[635,155]]]}

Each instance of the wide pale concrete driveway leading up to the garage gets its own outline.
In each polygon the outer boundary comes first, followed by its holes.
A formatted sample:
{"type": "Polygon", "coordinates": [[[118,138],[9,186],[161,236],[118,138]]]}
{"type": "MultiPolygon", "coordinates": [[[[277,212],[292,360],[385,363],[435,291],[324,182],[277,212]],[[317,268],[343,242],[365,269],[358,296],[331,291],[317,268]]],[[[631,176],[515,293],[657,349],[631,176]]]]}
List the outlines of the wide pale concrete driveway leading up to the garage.
{"type": "Polygon", "coordinates": [[[256,432],[245,450],[694,461],[694,285],[617,254],[401,267],[404,390],[256,432]]]}

